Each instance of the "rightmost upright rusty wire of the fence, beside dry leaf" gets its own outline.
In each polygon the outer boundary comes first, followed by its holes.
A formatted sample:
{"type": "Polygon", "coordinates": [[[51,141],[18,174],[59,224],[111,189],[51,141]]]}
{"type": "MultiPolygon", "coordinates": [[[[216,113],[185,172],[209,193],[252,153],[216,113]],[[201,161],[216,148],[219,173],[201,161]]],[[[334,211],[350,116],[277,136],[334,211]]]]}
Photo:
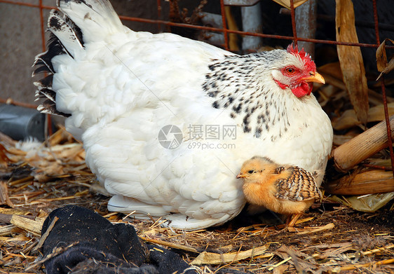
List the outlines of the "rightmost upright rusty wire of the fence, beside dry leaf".
{"type": "MultiPolygon", "coordinates": [[[[378,21],[378,10],[376,7],[376,0],[372,0],[372,4],[374,6],[376,45],[379,46],[380,45],[379,21],[378,21]]],[[[386,95],[386,86],[384,83],[384,75],[381,77],[381,94],[383,96],[384,119],[386,120],[387,140],[388,140],[388,149],[390,151],[391,169],[393,170],[393,176],[394,176],[393,139],[391,139],[392,136],[391,136],[390,118],[388,117],[387,95],[386,95]]]]}

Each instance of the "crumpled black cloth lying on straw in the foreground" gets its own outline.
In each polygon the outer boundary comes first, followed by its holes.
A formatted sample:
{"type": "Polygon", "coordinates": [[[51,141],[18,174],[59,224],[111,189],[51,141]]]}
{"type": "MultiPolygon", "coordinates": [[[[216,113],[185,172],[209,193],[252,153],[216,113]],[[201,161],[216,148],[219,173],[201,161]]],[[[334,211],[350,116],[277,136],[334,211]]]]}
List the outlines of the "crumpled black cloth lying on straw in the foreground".
{"type": "Polygon", "coordinates": [[[48,274],[166,274],[183,273],[189,268],[175,252],[160,252],[159,247],[144,245],[133,226],[111,224],[99,214],[75,205],[53,210],[44,221],[42,234],[55,217],[59,219],[42,247],[45,257],[55,254],[44,262],[48,274]]]}

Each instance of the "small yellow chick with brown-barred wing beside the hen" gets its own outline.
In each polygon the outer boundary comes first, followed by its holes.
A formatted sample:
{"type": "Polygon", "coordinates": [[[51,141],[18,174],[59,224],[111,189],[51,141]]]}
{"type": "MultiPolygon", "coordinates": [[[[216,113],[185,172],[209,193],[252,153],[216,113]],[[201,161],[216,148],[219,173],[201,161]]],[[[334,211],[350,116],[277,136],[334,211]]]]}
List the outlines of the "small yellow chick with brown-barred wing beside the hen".
{"type": "Polygon", "coordinates": [[[243,179],[248,203],[279,214],[294,214],[290,227],[322,196],[310,172],[293,165],[280,166],[266,157],[254,156],[245,161],[237,178],[243,179]]]}

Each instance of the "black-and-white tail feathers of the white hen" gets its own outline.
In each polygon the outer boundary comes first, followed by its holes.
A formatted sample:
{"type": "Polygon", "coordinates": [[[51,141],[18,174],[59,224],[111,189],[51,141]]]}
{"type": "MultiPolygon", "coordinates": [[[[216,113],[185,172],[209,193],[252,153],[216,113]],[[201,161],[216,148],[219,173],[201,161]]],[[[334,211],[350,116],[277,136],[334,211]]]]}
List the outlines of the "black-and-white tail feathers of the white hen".
{"type": "Polygon", "coordinates": [[[52,85],[53,74],[57,71],[53,67],[53,58],[69,55],[78,60],[84,43],[101,41],[107,35],[121,31],[123,25],[108,0],[57,0],[57,7],[63,15],[55,10],[50,11],[48,50],[36,56],[32,76],[48,74],[34,82],[37,87],[36,100],[44,99],[37,109],[43,113],[69,117],[71,114],[58,111],[56,107],[57,90],[53,90],[52,85]]]}

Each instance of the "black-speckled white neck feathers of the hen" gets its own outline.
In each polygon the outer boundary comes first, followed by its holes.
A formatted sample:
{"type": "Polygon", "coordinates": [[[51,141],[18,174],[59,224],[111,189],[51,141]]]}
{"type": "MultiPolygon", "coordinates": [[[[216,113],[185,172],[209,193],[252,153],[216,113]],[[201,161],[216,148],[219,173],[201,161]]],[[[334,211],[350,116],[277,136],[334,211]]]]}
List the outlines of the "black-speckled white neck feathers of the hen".
{"type": "Polygon", "coordinates": [[[271,51],[212,60],[203,83],[205,93],[215,99],[212,107],[229,109],[231,118],[242,124],[243,132],[250,132],[254,137],[268,138],[272,142],[282,137],[290,125],[287,111],[271,113],[274,111],[270,109],[285,108],[286,104],[281,102],[280,96],[274,100],[270,87],[264,81],[256,81],[255,76],[261,71],[269,71],[266,68],[278,62],[284,54],[271,51]],[[279,132],[271,131],[271,135],[267,135],[273,126],[279,126],[279,132]]]}

